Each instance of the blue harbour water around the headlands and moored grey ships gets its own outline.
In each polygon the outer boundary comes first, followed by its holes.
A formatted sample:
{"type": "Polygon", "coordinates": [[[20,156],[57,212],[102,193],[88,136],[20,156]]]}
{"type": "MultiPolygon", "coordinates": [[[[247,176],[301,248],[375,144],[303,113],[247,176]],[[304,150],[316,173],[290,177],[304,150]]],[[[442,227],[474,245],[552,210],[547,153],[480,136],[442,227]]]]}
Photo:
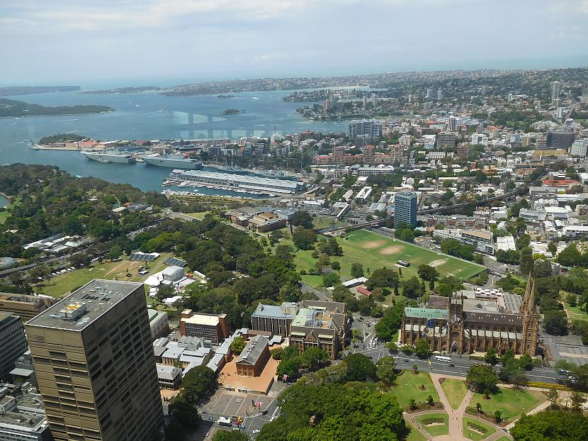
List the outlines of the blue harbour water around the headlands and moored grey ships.
{"type": "MultiPolygon", "coordinates": [[[[79,176],[94,176],[110,182],[128,183],[142,190],[161,190],[171,169],[145,164],[101,164],[87,160],[79,152],[32,150],[45,135],[79,133],[100,140],[154,140],[157,138],[239,138],[245,135],[271,135],[301,130],[345,131],[346,122],[307,121],[295,112],[300,103],[284,103],[289,91],[244,92],[235,99],[215,95],[163,96],[141,94],[84,95],[76,91],[10,96],[10,99],[44,106],[102,104],[115,108],[112,113],[75,116],[32,116],[0,118],[0,164],[57,165],[79,176]],[[246,113],[219,116],[225,108],[245,109],[246,113]]],[[[200,193],[223,194],[200,189],[200,193]]]]}

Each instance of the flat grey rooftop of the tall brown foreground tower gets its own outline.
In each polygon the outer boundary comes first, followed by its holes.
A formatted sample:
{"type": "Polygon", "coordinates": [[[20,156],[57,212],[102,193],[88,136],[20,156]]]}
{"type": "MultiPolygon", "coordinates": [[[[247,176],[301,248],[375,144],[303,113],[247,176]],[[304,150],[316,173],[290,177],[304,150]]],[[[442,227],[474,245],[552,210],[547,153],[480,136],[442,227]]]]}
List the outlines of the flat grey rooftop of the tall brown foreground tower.
{"type": "Polygon", "coordinates": [[[140,287],[142,284],[132,281],[94,279],[29,320],[27,325],[81,331],[140,287]]]}

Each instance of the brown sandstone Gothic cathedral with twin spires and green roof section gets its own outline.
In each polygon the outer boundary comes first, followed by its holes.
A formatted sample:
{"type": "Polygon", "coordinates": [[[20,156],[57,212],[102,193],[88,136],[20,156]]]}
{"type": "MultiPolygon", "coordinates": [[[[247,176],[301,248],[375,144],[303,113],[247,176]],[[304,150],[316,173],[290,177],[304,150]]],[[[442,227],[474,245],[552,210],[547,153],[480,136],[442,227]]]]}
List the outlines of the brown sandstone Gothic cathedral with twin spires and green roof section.
{"type": "Polygon", "coordinates": [[[471,354],[494,347],[499,353],[537,354],[539,316],[535,282],[529,274],[524,296],[461,291],[431,296],[425,308],[405,308],[400,343],[426,338],[431,350],[471,354]]]}

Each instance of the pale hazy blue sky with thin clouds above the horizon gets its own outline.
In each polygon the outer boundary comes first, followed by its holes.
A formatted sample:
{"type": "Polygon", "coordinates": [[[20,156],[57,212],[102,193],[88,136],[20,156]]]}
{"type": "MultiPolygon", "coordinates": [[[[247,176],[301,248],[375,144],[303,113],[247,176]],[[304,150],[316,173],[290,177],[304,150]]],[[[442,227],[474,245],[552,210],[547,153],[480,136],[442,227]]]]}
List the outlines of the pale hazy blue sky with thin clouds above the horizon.
{"type": "Polygon", "coordinates": [[[0,0],[0,84],[588,65],[588,0],[0,0]]]}

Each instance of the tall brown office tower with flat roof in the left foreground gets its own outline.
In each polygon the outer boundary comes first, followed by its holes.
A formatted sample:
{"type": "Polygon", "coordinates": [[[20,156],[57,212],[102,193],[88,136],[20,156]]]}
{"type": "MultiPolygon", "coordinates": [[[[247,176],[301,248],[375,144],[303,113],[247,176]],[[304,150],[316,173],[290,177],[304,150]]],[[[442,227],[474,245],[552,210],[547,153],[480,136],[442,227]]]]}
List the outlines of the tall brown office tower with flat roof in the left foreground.
{"type": "Polygon", "coordinates": [[[26,323],[56,441],[155,441],[164,415],[142,284],[90,281],[26,323]]]}

